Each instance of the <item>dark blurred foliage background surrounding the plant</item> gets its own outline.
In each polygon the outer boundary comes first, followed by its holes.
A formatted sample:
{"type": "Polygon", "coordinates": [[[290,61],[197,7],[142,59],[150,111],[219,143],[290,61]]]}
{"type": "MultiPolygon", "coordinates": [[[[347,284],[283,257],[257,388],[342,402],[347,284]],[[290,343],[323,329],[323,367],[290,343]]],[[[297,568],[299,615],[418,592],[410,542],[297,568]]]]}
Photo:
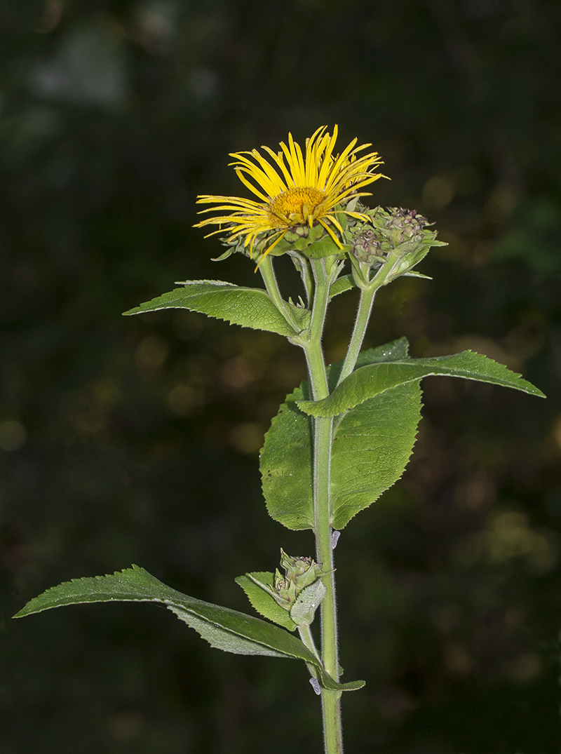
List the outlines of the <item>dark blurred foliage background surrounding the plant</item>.
{"type": "MultiPolygon", "coordinates": [[[[228,152],[338,123],[385,159],[372,206],[448,247],[382,290],[366,345],[473,348],[548,400],[425,380],[415,454],[337,550],[349,752],[558,752],[561,5],[555,0],[0,0],[0,750],[320,751],[296,663],[211,650],[167,611],[13,623],[131,562],[247,609],[233,579],[308,532],[268,519],[258,452],[302,379],[281,337],[187,312],[255,285],[192,228],[228,152]]],[[[281,259],[284,290],[297,293],[281,259]]],[[[356,299],[326,336],[342,355],[356,299]]]]}

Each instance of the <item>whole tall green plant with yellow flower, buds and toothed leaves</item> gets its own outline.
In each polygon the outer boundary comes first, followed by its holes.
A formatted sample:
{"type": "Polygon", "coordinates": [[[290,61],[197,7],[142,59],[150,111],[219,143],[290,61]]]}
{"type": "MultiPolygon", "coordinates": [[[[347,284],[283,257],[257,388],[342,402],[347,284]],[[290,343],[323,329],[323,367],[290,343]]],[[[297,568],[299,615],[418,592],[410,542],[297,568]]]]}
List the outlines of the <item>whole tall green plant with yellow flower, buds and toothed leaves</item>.
{"type": "Polygon", "coordinates": [[[201,204],[216,205],[204,213],[219,212],[198,223],[218,225],[213,232],[225,236],[219,259],[236,252],[255,259],[264,288],[186,280],[125,312],[190,309],[278,333],[302,348],[308,382],[287,396],[273,419],[260,463],[268,513],[287,529],[312,529],[314,557],[281,550],[282,571],[236,578],[265,621],[177,592],[138,566],[60,584],[16,616],[78,602],[161,602],[213,647],[303,661],[321,696],[326,754],[342,752],[342,692],[364,685],[339,677],[333,551],[340,530],[403,474],[421,418],[421,380],[451,375],[543,395],[472,351],[412,359],[405,338],[360,351],[376,291],[402,275],[425,277],[415,266],[443,244],[415,210],[362,204],[364,187],[384,177],[376,172],[379,155],[361,155],[370,145],[357,147],[356,139],[336,154],[336,137],[336,128],[332,136],[323,127],[304,151],[289,136],[279,152],[263,147],[266,157],[256,149],[231,155],[239,178],[260,201],[199,197],[201,204]],[[283,254],[302,277],[296,303],[283,298],[274,274],[274,257],[283,254]],[[360,301],[347,354],[328,366],[322,349],[326,310],[334,296],[354,287],[360,301]],[[319,642],[311,630],[317,608],[319,642]]]}

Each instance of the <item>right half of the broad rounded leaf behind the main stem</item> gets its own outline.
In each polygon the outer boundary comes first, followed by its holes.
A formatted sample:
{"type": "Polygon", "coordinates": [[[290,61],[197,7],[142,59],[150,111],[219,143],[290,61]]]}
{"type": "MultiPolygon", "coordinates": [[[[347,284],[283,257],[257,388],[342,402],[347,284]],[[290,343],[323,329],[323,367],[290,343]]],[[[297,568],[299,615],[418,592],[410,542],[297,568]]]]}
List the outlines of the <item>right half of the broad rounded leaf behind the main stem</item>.
{"type": "Polygon", "coordinates": [[[421,388],[408,382],[361,403],[334,428],[332,526],[343,529],[400,479],[421,419],[421,388]]]}

